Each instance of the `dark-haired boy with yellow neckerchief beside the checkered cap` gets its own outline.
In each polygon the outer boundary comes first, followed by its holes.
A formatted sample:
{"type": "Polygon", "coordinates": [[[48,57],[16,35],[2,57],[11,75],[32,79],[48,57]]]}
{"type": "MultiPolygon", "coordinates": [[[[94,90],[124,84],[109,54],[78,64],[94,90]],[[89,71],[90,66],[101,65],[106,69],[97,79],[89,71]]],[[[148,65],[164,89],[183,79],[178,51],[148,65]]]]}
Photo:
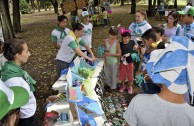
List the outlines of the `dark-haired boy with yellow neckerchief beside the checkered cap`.
{"type": "Polygon", "coordinates": [[[143,58],[141,59],[139,70],[136,72],[136,75],[143,74],[144,81],[141,86],[144,93],[154,94],[160,92],[160,88],[152,83],[152,80],[147,76],[146,72],[146,64],[150,59],[150,54],[153,50],[157,48],[157,35],[154,29],[147,30],[143,35],[142,39],[146,45],[145,52],[143,54],[143,58]]]}

